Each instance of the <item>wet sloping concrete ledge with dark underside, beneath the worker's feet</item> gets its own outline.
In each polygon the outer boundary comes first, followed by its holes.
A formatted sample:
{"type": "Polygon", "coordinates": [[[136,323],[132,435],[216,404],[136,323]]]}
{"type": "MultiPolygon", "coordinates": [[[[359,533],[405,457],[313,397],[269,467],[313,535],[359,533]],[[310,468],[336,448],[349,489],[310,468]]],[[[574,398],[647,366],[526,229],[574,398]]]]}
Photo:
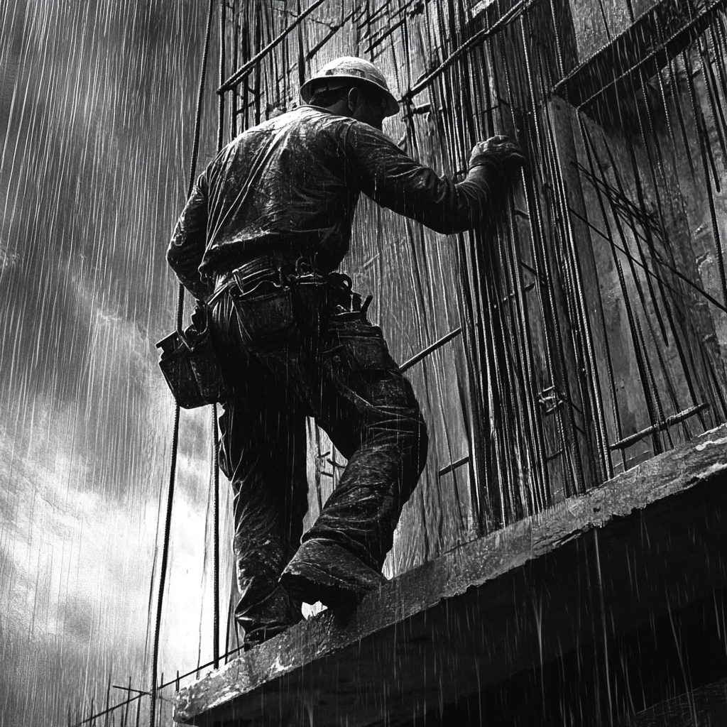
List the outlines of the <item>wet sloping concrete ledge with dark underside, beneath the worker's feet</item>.
{"type": "Polygon", "coordinates": [[[719,427],[298,624],[180,691],[174,719],[395,726],[628,632],[726,585],[726,475],[719,427]]]}

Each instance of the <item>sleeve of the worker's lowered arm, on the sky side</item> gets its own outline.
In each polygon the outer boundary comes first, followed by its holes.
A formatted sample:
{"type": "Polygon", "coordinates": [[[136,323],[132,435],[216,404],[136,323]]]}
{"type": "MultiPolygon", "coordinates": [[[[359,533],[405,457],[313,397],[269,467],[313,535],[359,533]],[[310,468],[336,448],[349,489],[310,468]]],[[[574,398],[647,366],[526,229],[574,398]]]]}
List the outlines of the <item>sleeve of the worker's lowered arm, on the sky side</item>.
{"type": "Polygon", "coordinates": [[[201,174],[180,214],[166,251],[166,262],[197,300],[204,300],[212,293],[212,286],[199,273],[206,243],[207,182],[205,174],[201,174]]]}

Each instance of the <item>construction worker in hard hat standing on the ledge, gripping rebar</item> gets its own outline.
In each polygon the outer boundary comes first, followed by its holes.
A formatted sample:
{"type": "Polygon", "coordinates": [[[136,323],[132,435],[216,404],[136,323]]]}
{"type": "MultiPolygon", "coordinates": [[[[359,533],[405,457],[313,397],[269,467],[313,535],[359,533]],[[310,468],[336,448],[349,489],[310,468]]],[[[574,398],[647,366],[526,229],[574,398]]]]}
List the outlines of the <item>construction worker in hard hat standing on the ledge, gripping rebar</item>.
{"type": "Polygon", "coordinates": [[[480,224],[523,164],[505,137],[475,145],[459,183],[413,161],[382,133],[398,102],[361,58],[334,60],[300,94],[306,105],[243,132],[209,164],[167,254],[182,284],[212,306],[232,390],[220,466],[233,488],[246,646],[299,621],[301,602],[336,608],[379,587],[425,465],[411,385],[350,278],[335,272],[359,196],[455,233],[480,224]],[[305,417],[348,465],[303,535],[305,417]]]}

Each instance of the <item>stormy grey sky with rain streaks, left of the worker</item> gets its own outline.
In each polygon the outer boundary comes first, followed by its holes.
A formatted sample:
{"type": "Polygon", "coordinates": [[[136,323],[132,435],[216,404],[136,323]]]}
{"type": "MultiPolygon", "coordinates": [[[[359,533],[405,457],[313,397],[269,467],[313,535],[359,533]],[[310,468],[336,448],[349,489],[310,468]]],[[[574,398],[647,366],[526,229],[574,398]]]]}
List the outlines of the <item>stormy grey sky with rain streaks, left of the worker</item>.
{"type": "MultiPolygon", "coordinates": [[[[174,320],[164,252],[187,186],[204,6],[0,5],[3,727],[65,723],[69,704],[105,701],[110,674],[148,681],[173,419],[154,344],[174,320]]],[[[212,82],[214,63],[213,50],[212,82]]],[[[207,113],[200,164],[212,124],[207,113]]],[[[182,419],[167,674],[198,656],[208,428],[205,412],[182,419]]]]}

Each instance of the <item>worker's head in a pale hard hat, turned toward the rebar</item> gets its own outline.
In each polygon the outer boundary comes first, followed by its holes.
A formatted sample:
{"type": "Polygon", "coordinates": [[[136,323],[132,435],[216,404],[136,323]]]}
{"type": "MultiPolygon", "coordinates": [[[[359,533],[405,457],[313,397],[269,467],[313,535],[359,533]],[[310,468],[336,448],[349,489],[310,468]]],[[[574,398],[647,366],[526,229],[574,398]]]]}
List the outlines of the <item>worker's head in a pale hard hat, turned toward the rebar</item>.
{"type": "Polygon", "coordinates": [[[345,56],[324,65],[300,88],[305,103],[327,108],[381,129],[399,111],[384,75],[363,58],[345,56]]]}

